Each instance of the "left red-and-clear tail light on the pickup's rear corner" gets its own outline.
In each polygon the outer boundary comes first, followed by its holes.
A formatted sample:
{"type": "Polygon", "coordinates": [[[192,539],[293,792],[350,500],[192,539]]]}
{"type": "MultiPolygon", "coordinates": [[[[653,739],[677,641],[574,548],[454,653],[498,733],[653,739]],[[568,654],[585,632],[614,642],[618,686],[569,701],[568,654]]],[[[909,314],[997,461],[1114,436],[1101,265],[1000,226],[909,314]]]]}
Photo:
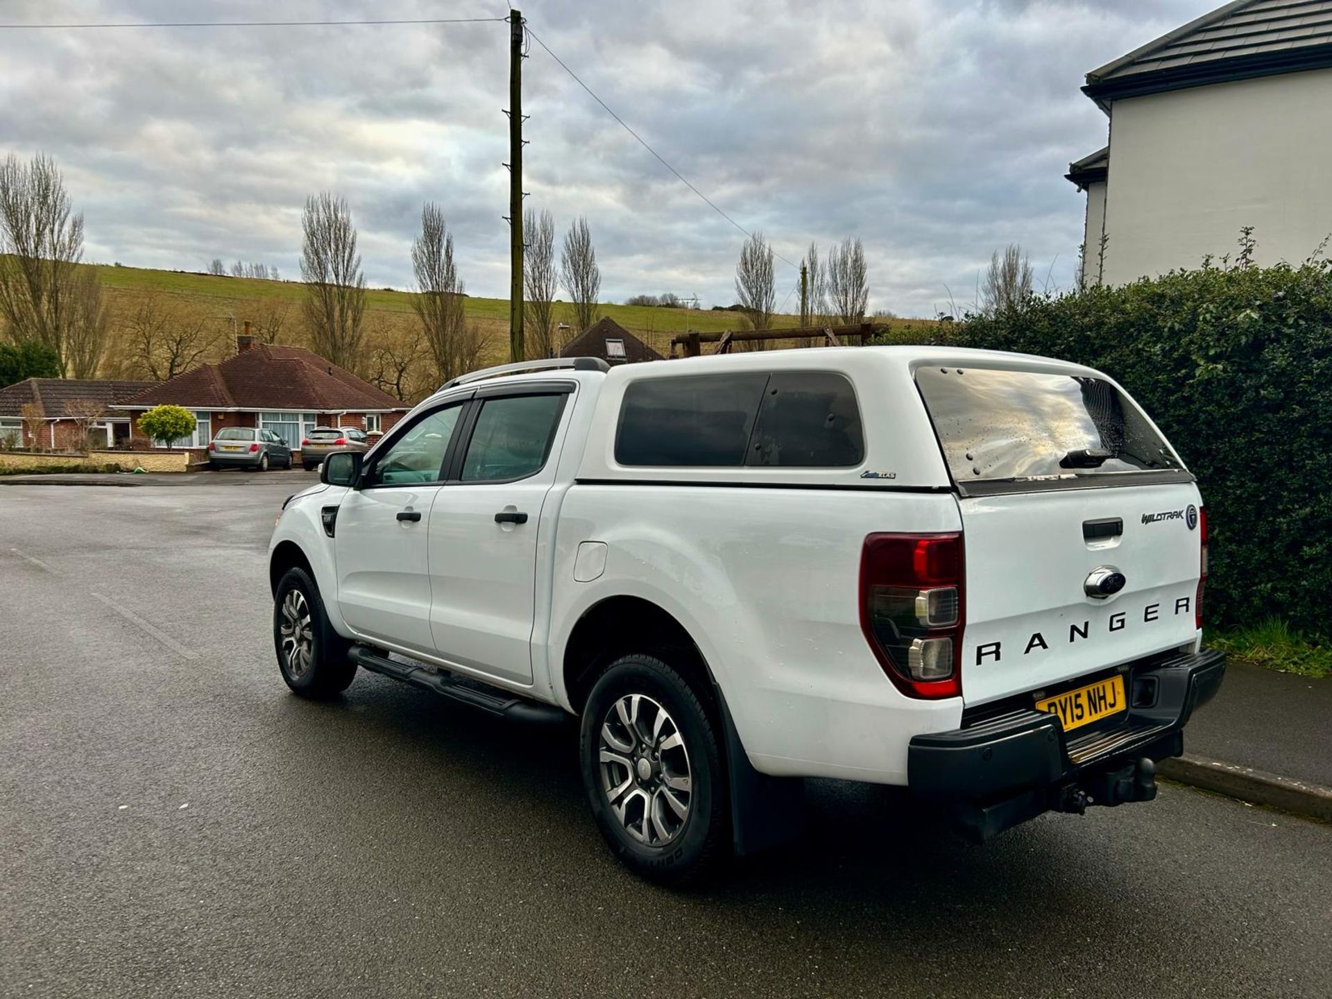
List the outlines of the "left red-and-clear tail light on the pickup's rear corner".
{"type": "Polygon", "coordinates": [[[860,630],[908,697],[962,694],[960,534],[870,534],[860,549],[860,630]]]}

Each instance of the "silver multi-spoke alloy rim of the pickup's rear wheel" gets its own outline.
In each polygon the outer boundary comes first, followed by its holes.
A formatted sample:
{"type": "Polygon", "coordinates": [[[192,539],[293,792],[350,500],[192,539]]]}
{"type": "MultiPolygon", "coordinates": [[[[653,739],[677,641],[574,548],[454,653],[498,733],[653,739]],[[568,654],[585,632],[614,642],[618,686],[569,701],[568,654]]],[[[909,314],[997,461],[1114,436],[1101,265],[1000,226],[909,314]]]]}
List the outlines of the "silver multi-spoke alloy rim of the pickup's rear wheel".
{"type": "Polygon", "coordinates": [[[689,821],[693,781],[683,733],[646,694],[618,698],[598,739],[601,787],[625,831],[645,846],[666,846],[689,821]]]}

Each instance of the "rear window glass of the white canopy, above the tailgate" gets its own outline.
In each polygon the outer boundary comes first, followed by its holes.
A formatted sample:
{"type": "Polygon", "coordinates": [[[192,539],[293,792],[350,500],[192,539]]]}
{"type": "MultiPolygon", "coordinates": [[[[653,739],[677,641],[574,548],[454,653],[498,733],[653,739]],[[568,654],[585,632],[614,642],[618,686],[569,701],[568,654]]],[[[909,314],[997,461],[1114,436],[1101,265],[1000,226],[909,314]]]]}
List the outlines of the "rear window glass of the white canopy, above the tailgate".
{"type": "Polygon", "coordinates": [[[1103,378],[920,368],[916,385],[958,484],[1181,468],[1132,400],[1103,378]]]}

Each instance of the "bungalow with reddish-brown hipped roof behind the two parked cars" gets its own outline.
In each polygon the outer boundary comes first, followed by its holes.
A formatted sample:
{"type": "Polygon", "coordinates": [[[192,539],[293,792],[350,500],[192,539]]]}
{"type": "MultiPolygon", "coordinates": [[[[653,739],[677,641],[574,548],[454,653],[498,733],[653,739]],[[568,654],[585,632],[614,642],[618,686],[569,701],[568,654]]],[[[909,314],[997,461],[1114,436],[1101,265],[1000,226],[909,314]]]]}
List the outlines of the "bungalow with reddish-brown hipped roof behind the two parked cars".
{"type": "MultiPolygon", "coordinates": [[[[156,382],[111,408],[137,418],[161,404],[194,413],[194,433],[176,446],[206,448],[225,426],[257,426],[296,452],[314,426],[356,426],[373,440],[410,409],[304,348],[256,344],[246,336],[236,338],[233,357],[156,382]]],[[[132,426],[132,445],[147,445],[132,426]]]]}

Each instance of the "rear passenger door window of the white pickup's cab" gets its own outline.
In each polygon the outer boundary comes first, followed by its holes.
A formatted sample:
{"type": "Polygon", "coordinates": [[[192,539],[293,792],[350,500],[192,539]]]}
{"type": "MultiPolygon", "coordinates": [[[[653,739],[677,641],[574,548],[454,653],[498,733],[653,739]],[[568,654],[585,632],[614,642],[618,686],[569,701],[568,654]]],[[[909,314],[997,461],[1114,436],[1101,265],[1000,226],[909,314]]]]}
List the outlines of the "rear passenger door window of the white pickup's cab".
{"type": "Polygon", "coordinates": [[[563,396],[501,396],[481,404],[462,461],[464,482],[523,478],[541,469],[563,396]]]}

